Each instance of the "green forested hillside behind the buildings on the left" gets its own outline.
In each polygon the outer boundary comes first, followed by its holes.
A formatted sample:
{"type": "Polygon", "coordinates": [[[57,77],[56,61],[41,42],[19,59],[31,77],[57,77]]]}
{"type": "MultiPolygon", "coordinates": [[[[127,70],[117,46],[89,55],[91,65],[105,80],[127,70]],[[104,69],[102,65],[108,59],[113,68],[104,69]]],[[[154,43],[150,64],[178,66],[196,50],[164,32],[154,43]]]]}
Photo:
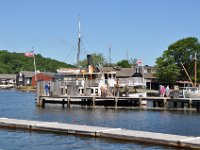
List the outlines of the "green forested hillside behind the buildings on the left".
{"type": "MultiPolygon", "coordinates": [[[[56,72],[60,67],[75,67],[64,62],[50,58],[44,58],[40,54],[35,55],[37,70],[56,72]]],[[[11,53],[0,50],[0,73],[17,73],[19,71],[34,71],[33,58],[24,56],[24,53],[11,53]]]]}

